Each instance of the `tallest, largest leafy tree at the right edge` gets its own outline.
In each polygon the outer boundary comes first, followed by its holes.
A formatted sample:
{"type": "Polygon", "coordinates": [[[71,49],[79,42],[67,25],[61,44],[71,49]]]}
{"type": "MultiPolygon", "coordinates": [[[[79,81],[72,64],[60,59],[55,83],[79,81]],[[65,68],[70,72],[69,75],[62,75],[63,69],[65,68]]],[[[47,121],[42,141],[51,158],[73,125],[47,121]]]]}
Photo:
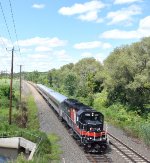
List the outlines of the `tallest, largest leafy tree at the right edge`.
{"type": "Polygon", "coordinates": [[[121,102],[145,112],[150,103],[150,38],[116,48],[105,60],[105,87],[110,104],[121,102]]]}

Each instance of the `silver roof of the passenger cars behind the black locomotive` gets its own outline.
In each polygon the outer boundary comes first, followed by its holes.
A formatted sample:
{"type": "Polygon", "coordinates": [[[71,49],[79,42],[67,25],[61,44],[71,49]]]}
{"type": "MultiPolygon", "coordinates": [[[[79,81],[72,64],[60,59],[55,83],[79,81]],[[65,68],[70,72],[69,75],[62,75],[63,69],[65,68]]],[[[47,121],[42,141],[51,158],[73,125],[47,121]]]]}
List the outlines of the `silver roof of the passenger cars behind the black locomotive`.
{"type": "Polygon", "coordinates": [[[45,91],[47,94],[49,94],[51,97],[53,97],[55,100],[57,100],[59,103],[63,102],[65,99],[67,99],[66,96],[55,92],[53,89],[50,89],[42,84],[37,84],[39,88],[41,88],[43,91],[45,91]]]}

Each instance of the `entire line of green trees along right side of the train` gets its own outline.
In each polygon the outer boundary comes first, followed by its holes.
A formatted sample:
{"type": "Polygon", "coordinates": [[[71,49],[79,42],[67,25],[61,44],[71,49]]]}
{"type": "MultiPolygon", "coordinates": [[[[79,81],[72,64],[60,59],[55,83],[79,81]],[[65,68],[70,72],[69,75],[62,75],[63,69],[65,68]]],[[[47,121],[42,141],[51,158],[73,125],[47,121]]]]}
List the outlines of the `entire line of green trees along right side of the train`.
{"type": "Polygon", "coordinates": [[[106,105],[121,103],[140,115],[150,113],[150,37],[117,47],[101,64],[84,58],[49,72],[25,73],[24,78],[42,83],[92,106],[95,95],[107,93],[106,105]]]}

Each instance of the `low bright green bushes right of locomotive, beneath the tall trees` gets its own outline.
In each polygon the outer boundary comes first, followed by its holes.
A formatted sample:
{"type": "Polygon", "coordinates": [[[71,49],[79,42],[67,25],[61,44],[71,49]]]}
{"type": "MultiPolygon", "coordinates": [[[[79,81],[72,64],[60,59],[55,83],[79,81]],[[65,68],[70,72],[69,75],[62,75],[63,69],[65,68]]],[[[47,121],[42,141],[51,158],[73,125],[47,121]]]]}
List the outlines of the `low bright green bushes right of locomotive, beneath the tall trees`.
{"type": "Polygon", "coordinates": [[[105,115],[107,122],[123,128],[132,136],[141,137],[147,145],[150,145],[149,115],[147,119],[144,119],[137,112],[128,111],[129,109],[120,103],[107,107],[106,91],[96,95],[94,107],[105,115]]]}

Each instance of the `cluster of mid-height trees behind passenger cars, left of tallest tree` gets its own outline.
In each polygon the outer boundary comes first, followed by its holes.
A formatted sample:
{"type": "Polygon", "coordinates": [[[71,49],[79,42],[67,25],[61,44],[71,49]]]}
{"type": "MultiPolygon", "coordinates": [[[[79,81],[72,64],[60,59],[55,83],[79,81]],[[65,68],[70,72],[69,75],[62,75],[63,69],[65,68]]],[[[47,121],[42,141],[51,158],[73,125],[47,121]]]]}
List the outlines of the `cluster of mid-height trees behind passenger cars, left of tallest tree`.
{"type": "Polygon", "coordinates": [[[48,86],[69,97],[87,98],[92,105],[93,93],[103,89],[103,78],[98,75],[103,70],[94,58],[85,58],[76,64],[67,64],[48,72],[48,86]]]}

